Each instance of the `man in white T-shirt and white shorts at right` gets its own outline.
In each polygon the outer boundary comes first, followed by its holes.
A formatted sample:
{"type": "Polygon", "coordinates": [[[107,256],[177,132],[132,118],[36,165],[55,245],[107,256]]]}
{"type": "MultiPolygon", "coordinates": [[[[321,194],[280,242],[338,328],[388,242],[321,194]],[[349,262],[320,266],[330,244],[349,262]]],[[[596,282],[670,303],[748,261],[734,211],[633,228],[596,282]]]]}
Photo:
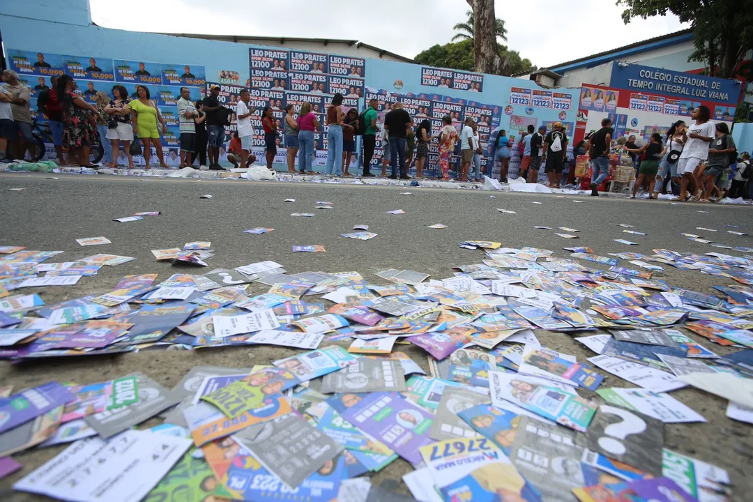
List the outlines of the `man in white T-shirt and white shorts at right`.
{"type": "Polygon", "coordinates": [[[680,201],[687,201],[688,184],[693,190],[691,200],[697,201],[701,198],[701,190],[697,183],[695,171],[709,157],[709,143],[711,143],[716,134],[716,127],[711,119],[709,108],[701,105],[691,112],[691,118],[695,123],[688,128],[682,129],[682,140],[685,143],[680,159],[677,161],[677,172],[681,175],[680,179],[680,201]]]}

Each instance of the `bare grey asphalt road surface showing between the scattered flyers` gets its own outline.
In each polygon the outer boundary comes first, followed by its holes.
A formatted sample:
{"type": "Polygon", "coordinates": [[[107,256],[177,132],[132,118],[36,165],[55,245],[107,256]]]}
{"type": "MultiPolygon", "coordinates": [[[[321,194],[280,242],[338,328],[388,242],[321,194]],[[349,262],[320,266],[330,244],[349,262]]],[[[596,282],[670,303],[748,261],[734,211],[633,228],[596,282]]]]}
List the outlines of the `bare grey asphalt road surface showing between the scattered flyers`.
{"type": "MultiPolygon", "coordinates": [[[[663,201],[420,187],[194,181],[104,175],[58,175],[59,179],[50,180],[47,176],[0,174],[0,245],[65,251],[59,259],[50,261],[72,261],[96,253],[136,257],[130,263],[105,266],[98,275],[83,278],[72,287],[27,290],[40,293],[47,304],[111,291],[123,275],[159,273],[157,281],[160,281],[172,273],[206,272],[208,269],[187,269],[156,262],[150,252],[151,249],[182,247],[185,242],[199,240],[212,241],[212,249],[216,252],[208,260],[209,269],[275,260],[288,272],[357,270],[364,277],[380,283],[383,281],[371,274],[383,269],[413,269],[431,274],[433,278],[447,278],[452,275],[453,266],[480,263],[483,259],[481,251],[459,248],[459,242],[469,239],[497,241],[511,248],[545,248],[556,251],[555,256],[559,257],[569,255],[569,251],[562,251],[562,247],[569,246],[589,246],[596,254],[620,251],[652,254],[651,249],[666,248],[742,255],[688,241],[680,233],[696,233],[733,246],[753,244],[748,236],[727,233],[730,228],[725,227],[726,224],[741,227],[733,230],[753,233],[750,208],[733,205],[671,205],[663,201]],[[10,188],[25,190],[9,191],[10,188]],[[403,195],[403,192],[411,194],[403,195]],[[205,193],[213,198],[200,199],[205,193]],[[492,195],[495,198],[491,198],[492,195]],[[288,198],[296,201],[283,202],[288,198]],[[316,201],[332,202],[334,209],[316,209],[316,201]],[[497,208],[516,211],[517,214],[503,214],[497,208]],[[386,214],[393,209],[403,209],[407,214],[386,214]],[[112,221],[137,211],[161,211],[162,214],[130,223],[112,221]],[[315,216],[291,217],[293,212],[312,212],[315,216]],[[446,224],[447,228],[427,228],[437,223],[446,224]],[[369,230],[378,236],[369,241],[340,236],[356,224],[369,225],[369,230]],[[617,224],[634,225],[631,230],[648,235],[623,233],[623,228],[617,224]],[[564,230],[535,230],[536,225],[578,229],[579,239],[563,239],[554,233],[569,233],[564,230]],[[242,233],[252,227],[272,227],[275,230],[263,235],[242,233]],[[718,231],[712,233],[696,230],[696,227],[718,231]],[[95,236],[105,236],[112,244],[82,248],[75,241],[95,236]],[[626,239],[639,245],[623,245],[614,239],[626,239]],[[293,253],[294,245],[324,245],[327,251],[293,253]]],[[[626,260],[620,264],[631,266],[626,260]]],[[[731,282],[699,272],[667,268],[656,277],[696,291],[709,292],[712,285],[731,282]]],[[[261,293],[266,289],[262,284],[253,285],[253,292],[261,293]]],[[[579,361],[594,355],[569,336],[541,330],[537,335],[544,345],[575,354],[579,361]]],[[[730,351],[706,339],[694,338],[718,354],[730,351]]],[[[427,369],[425,354],[421,351],[408,345],[401,345],[400,350],[407,351],[427,369]]],[[[140,370],[157,382],[172,387],[184,373],[197,365],[247,367],[249,364],[267,364],[293,353],[285,348],[255,347],[194,352],[142,351],[85,361],[56,359],[35,364],[0,363],[0,384],[14,384],[17,390],[49,379],[85,384],[140,370]]],[[[608,376],[602,385],[630,386],[613,376],[608,376]]],[[[696,409],[709,423],[667,424],[665,446],[724,467],[733,478],[735,500],[753,500],[753,479],[745,476],[750,473],[753,456],[750,426],[726,418],[726,401],[710,394],[681,390],[673,392],[672,396],[696,409]]],[[[5,490],[9,489],[11,482],[47,461],[60,449],[16,455],[24,469],[0,482],[0,500],[33,500],[34,497],[5,490]]],[[[386,488],[404,492],[400,478],[409,470],[406,462],[398,460],[377,473],[373,482],[385,483],[386,488]]]]}

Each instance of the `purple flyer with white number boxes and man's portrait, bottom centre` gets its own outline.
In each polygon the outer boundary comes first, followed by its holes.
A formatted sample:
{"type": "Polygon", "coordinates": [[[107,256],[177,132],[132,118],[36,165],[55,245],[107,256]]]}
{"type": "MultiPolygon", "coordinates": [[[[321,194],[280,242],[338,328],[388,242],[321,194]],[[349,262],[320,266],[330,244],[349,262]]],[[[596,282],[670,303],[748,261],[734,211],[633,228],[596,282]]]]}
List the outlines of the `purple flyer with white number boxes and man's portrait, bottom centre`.
{"type": "Polygon", "coordinates": [[[428,437],[434,417],[394,392],[339,397],[346,407],[343,418],[382,441],[414,467],[421,463],[419,448],[434,443],[428,437]]]}

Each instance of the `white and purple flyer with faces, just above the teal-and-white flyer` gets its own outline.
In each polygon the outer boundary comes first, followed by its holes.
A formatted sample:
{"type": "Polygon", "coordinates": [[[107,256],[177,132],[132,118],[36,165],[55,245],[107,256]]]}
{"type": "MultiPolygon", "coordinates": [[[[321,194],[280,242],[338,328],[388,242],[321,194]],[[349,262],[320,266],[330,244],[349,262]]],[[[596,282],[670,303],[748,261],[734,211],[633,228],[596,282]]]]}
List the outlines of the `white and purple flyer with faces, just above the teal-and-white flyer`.
{"type": "Polygon", "coordinates": [[[527,345],[518,373],[541,376],[567,385],[580,385],[595,391],[604,377],[572,361],[574,357],[544,347],[527,345]]]}

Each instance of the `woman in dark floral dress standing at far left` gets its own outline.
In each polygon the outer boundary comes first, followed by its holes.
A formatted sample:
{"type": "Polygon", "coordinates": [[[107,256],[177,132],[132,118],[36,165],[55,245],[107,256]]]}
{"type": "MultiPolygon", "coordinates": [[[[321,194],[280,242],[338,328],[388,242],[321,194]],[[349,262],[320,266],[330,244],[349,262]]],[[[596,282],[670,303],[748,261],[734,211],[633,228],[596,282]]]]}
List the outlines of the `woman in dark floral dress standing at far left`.
{"type": "Polygon", "coordinates": [[[99,115],[89,103],[75,93],[76,83],[70,75],[62,75],[57,81],[57,98],[62,103],[62,119],[65,130],[62,133],[63,146],[69,154],[78,157],[78,165],[96,167],[89,162],[89,152],[96,143],[96,129],[91,114],[99,115]]]}

